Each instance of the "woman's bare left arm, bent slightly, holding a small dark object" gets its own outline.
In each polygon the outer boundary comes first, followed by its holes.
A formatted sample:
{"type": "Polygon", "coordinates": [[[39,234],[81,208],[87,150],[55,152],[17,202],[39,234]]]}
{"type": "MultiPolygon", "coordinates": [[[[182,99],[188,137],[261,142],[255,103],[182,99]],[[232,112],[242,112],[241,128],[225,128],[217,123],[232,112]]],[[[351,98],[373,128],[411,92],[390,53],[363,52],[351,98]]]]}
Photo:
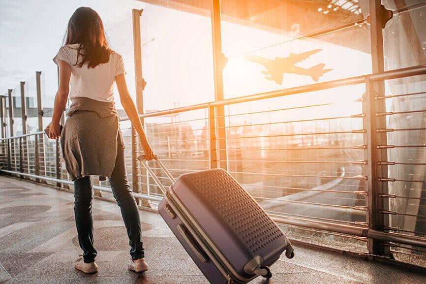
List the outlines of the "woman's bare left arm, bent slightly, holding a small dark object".
{"type": "Polygon", "coordinates": [[[61,116],[65,110],[69,94],[69,79],[71,77],[71,66],[63,60],[58,60],[59,66],[59,88],[55,95],[52,122],[49,125],[49,138],[61,137],[61,116]]]}

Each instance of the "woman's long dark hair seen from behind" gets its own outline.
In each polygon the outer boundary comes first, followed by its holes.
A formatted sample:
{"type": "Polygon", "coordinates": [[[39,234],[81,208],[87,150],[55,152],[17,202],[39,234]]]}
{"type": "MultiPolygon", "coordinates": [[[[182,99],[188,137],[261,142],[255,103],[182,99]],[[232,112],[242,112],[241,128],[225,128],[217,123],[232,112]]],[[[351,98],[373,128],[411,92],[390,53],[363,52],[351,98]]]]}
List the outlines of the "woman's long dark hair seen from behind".
{"type": "Polygon", "coordinates": [[[78,67],[88,63],[88,68],[107,63],[113,51],[108,45],[102,19],[99,14],[89,7],[80,7],[72,14],[68,22],[65,44],[78,43],[78,67]],[[79,57],[82,57],[80,63],[79,57]]]}

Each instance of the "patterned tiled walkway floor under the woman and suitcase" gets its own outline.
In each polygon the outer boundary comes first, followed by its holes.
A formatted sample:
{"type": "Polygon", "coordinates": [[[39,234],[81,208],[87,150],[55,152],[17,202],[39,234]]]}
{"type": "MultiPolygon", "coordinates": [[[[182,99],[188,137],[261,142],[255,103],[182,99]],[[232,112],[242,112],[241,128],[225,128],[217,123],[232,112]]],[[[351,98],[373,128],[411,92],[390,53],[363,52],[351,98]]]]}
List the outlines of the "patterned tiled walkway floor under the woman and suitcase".
{"type": "MultiPolygon", "coordinates": [[[[208,284],[160,216],[140,211],[150,270],[127,270],[128,244],[116,204],[95,200],[99,273],[84,275],[73,262],[80,253],[73,195],[0,176],[0,283],[5,284],[208,284]]],[[[295,246],[293,259],[272,267],[270,284],[426,283],[426,273],[295,246]]],[[[258,278],[253,283],[264,283],[258,278]]]]}

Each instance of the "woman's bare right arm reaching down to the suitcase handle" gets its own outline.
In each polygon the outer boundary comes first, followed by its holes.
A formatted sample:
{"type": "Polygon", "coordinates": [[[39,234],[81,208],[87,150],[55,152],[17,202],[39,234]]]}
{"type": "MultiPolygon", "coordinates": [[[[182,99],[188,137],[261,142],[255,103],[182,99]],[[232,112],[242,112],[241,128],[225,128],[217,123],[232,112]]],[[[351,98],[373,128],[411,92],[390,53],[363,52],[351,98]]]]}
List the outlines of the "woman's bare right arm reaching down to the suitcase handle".
{"type": "Polygon", "coordinates": [[[117,89],[119,90],[120,100],[122,102],[122,106],[130,119],[133,127],[135,127],[136,132],[138,132],[142,148],[145,152],[145,160],[152,160],[154,158],[154,153],[152,152],[152,148],[150,143],[148,143],[147,136],[145,135],[145,131],[142,128],[141,119],[139,118],[138,111],[136,110],[136,106],[133,103],[133,100],[127,90],[126,78],[124,74],[120,74],[116,76],[116,84],[117,89]]]}

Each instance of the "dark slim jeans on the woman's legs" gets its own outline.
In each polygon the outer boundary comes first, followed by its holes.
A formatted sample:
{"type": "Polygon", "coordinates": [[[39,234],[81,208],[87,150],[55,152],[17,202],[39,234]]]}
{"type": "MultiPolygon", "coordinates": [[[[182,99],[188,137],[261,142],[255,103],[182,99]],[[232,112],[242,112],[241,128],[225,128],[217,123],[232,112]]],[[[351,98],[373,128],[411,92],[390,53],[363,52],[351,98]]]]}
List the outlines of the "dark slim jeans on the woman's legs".
{"type": "MultiPolygon", "coordinates": [[[[116,164],[109,182],[122,211],[124,225],[129,237],[130,255],[133,260],[144,257],[141,237],[141,221],[136,201],[133,198],[127,181],[124,149],[118,147],[116,164]]],[[[77,225],[78,242],[83,250],[84,262],[90,263],[96,257],[93,247],[93,217],[91,203],[93,190],[89,176],[74,181],[74,214],[77,225]]]]}

